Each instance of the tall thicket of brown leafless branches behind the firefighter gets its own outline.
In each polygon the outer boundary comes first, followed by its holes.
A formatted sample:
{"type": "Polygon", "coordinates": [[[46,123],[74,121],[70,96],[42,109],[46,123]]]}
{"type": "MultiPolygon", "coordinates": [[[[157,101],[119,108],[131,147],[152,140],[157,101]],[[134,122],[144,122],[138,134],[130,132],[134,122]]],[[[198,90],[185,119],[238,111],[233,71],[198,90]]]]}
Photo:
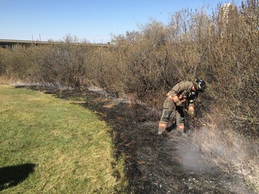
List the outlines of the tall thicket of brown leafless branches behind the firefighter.
{"type": "Polygon", "coordinates": [[[115,46],[94,47],[68,36],[48,46],[1,49],[0,75],[59,87],[99,86],[158,109],[171,86],[198,77],[208,85],[199,97],[202,122],[226,138],[231,130],[257,138],[258,0],[234,8],[227,24],[221,6],[212,14],[175,12],[167,25],[151,19],[139,30],[114,37],[115,46]]]}

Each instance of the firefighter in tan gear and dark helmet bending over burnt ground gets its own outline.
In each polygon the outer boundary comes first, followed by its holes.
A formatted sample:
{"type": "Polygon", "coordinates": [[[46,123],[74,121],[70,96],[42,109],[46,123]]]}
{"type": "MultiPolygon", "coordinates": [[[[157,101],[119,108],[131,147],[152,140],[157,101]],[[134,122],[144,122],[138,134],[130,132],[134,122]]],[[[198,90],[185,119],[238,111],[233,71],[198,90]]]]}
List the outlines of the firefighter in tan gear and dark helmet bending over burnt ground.
{"type": "Polygon", "coordinates": [[[158,126],[158,135],[162,135],[168,129],[169,118],[176,109],[176,130],[184,133],[184,108],[190,115],[194,115],[194,101],[198,97],[198,92],[204,91],[206,83],[202,79],[194,81],[180,81],[167,93],[163,104],[162,117],[158,126]]]}

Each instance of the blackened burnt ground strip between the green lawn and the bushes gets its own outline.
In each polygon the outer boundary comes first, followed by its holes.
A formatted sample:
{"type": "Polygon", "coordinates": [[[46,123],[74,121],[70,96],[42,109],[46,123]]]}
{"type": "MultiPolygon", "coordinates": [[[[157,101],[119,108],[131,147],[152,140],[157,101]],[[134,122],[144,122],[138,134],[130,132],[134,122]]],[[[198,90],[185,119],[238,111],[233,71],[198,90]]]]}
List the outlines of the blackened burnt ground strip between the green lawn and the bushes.
{"type": "MultiPolygon", "coordinates": [[[[62,93],[65,98],[71,95],[62,93]]],[[[240,175],[205,161],[191,135],[175,130],[157,135],[157,115],[148,109],[91,90],[73,96],[84,99],[75,104],[94,111],[113,128],[115,157],[126,157],[126,193],[253,193],[240,175]]]]}

